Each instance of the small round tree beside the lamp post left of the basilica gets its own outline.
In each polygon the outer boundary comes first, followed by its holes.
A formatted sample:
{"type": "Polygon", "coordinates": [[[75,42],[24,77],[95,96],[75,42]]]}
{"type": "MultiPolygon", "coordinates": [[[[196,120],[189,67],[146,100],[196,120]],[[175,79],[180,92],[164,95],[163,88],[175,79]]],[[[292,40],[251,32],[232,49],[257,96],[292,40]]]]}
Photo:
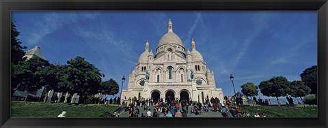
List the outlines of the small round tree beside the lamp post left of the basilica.
{"type": "Polygon", "coordinates": [[[109,79],[105,82],[101,82],[100,84],[100,93],[105,94],[105,95],[115,95],[118,93],[118,83],[113,80],[109,79]]]}

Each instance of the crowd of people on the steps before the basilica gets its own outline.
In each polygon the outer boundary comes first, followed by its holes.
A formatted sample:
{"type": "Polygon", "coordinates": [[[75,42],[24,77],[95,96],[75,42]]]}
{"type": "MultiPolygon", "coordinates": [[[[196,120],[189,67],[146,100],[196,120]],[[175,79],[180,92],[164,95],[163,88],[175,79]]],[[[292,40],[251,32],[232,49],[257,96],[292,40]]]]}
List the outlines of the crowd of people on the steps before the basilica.
{"type": "Polygon", "coordinates": [[[206,98],[204,104],[191,99],[182,101],[179,99],[165,99],[165,101],[158,99],[154,101],[143,97],[139,99],[129,97],[128,102],[123,102],[128,117],[187,117],[187,113],[201,115],[210,110],[221,114],[223,117],[266,117],[265,114],[260,116],[258,113],[251,115],[249,112],[242,112],[241,108],[230,106],[230,104],[231,101],[227,97],[224,98],[223,104],[217,97],[206,98]],[[146,113],[140,112],[137,106],[141,106],[146,113]]]}

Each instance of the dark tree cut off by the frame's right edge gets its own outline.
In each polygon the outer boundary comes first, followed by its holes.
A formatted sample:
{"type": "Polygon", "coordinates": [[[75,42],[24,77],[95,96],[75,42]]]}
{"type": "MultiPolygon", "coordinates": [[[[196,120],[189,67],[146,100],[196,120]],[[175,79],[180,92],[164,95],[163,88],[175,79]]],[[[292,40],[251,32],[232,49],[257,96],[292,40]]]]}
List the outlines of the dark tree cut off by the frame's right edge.
{"type": "Polygon", "coordinates": [[[314,65],[303,71],[300,75],[302,82],[311,89],[310,94],[317,94],[318,66],[314,65]]]}

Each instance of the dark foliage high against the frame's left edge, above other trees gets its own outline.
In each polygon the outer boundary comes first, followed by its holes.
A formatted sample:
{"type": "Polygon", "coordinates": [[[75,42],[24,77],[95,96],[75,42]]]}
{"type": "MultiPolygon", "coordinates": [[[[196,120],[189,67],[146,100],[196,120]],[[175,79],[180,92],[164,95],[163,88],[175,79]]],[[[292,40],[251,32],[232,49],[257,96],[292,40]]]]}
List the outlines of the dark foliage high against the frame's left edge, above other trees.
{"type": "Polygon", "coordinates": [[[25,59],[23,59],[25,52],[23,51],[23,49],[26,49],[26,46],[20,46],[20,44],[22,44],[22,42],[19,41],[19,39],[17,39],[18,35],[19,35],[19,31],[16,29],[16,25],[15,25],[16,21],[12,20],[11,21],[11,62],[14,64],[17,64],[18,61],[25,61],[25,59]]]}

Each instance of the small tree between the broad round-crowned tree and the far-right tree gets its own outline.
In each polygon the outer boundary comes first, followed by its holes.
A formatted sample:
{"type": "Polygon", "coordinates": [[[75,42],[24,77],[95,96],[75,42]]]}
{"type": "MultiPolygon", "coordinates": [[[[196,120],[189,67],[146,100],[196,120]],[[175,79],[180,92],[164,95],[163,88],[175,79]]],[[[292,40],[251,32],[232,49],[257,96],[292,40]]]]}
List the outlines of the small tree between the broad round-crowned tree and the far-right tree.
{"type": "MultiPolygon", "coordinates": [[[[303,101],[302,97],[309,95],[310,91],[311,89],[308,86],[305,86],[302,81],[295,80],[290,82],[290,95],[292,95],[292,97],[300,97],[303,101]]],[[[305,107],[304,101],[303,106],[305,107]]]]}

